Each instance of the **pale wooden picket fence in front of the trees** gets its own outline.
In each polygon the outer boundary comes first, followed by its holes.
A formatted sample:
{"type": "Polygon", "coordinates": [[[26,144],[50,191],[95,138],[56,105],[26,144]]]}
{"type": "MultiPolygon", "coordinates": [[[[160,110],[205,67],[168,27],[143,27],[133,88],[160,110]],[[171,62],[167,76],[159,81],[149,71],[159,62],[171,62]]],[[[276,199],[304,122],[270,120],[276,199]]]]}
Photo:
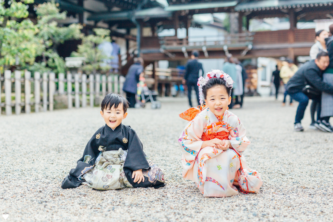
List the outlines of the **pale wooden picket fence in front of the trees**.
{"type": "Polygon", "coordinates": [[[88,79],[86,74],[70,72],[67,73],[66,79],[63,73],[60,73],[56,79],[54,73],[41,75],[41,73],[35,72],[34,78],[31,78],[29,71],[15,71],[14,78],[12,78],[12,72],[6,70],[0,74],[0,115],[2,107],[5,107],[6,115],[12,114],[12,107],[15,107],[16,114],[20,114],[22,110],[30,113],[32,106],[35,112],[53,111],[54,98],[61,95],[67,96],[68,109],[73,108],[73,104],[75,108],[87,107],[88,101],[89,106],[93,107],[94,99],[104,98],[107,93],[114,92],[123,95],[124,81],[125,77],[118,75],[90,74],[88,79]],[[22,78],[23,72],[24,78],[22,78]],[[14,92],[12,92],[13,83],[14,92]],[[67,90],[65,91],[66,83],[67,90]],[[72,91],[73,84],[74,91],[72,91]],[[31,90],[32,86],[34,92],[31,90]],[[23,92],[22,89],[24,89],[23,92]],[[3,94],[5,95],[4,101],[3,94]]]}

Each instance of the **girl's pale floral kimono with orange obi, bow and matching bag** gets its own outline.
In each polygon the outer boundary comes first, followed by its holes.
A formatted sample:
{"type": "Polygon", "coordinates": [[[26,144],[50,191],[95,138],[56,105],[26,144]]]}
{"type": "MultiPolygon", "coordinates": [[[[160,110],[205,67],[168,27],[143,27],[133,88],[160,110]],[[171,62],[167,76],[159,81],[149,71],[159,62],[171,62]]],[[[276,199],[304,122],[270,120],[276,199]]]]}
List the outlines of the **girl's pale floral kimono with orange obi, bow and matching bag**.
{"type": "Polygon", "coordinates": [[[183,178],[194,181],[203,196],[236,195],[238,190],[234,185],[244,193],[258,192],[261,176],[247,169],[242,152],[250,141],[236,115],[225,111],[223,116],[215,116],[209,108],[201,112],[190,108],[180,116],[190,120],[178,139],[183,154],[183,178]],[[230,140],[233,149],[223,151],[211,146],[200,149],[203,141],[213,138],[230,140]]]}

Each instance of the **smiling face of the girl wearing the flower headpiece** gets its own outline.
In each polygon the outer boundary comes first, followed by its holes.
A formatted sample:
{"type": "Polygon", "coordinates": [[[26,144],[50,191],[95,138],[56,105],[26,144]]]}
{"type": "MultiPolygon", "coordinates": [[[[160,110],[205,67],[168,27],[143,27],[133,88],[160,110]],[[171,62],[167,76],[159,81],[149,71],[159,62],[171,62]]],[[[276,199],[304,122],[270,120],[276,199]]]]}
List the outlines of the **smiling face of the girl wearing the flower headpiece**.
{"type": "Polygon", "coordinates": [[[220,116],[227,110],[231,97],[224,86],[214,86],[207,90],[205,102],[212,113],[220,116]]]}

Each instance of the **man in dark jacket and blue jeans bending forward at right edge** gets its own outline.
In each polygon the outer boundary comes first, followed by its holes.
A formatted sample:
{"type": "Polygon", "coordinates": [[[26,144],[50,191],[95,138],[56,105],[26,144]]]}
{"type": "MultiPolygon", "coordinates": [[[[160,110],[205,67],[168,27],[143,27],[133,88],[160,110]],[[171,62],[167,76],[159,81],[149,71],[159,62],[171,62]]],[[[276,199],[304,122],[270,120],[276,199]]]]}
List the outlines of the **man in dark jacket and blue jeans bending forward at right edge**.
{"type": "Polygon", "coordinates": [[[295,131],[303,131],[301,120],[304,116],[304,111],[308,105],[309,98],[302,93],[302,89],[306,85],[310,85],[321,92],[333,94],[333,86],[324,83],[322,80],[323,71],[329,65],[329,57],[326,52],[320,52],[315,60],[311,60],[304,64],[286,84],[286,90],[292,99],[299,102],[296,117],[295,131]]]}

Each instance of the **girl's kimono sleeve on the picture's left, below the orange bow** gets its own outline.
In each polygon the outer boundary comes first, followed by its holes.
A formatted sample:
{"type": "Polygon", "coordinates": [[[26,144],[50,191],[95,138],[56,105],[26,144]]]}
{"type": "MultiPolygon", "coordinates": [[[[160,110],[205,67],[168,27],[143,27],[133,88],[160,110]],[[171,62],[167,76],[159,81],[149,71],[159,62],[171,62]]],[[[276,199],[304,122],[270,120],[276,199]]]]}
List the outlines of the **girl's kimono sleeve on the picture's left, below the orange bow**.
{"type": "Polygon", "coordinates": [[[197,115],[180,134],[178,142],[187,161],[194,160],[201,149],[203,128],[203,120],[197,115]]]}

